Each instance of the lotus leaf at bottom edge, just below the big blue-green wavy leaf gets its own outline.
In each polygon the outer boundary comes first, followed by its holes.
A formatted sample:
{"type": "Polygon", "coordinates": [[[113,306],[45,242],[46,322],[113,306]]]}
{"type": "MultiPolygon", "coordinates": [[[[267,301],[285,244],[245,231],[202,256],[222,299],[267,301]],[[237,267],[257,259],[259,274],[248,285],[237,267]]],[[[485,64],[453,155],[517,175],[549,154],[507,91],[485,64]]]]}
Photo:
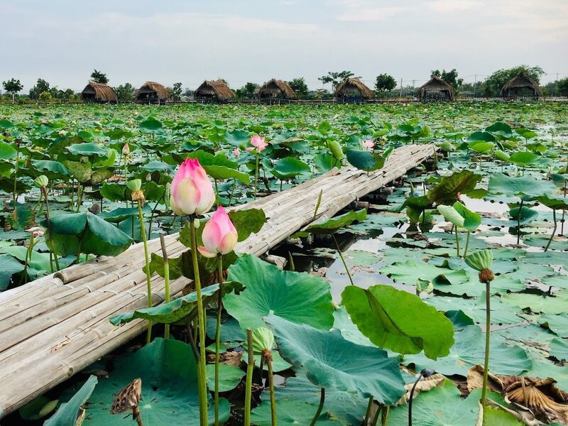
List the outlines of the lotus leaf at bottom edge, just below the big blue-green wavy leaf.
{"type": "MultiPolygon", "coordinates": [[[[317,404],[305,403],[300,400],[277,400],[276,421],[278,425],[310,425],[317,411],[317,404]]],[[[266,399],[251,411],[251,423],[255,426],[272,426],[271,403],[266,399]]],[[[318,426],[339,426],[340,422],[322,413],[317,419],[318,426]]]]}

